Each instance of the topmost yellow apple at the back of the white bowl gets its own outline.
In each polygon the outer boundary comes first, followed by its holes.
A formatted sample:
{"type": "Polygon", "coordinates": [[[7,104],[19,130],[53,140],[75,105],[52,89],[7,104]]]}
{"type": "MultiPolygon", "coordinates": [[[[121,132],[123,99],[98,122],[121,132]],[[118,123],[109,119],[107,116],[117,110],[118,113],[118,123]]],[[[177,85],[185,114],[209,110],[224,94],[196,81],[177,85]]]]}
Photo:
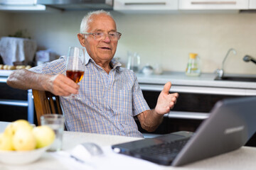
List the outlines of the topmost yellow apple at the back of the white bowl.
{"type": "Polygon", "coordinates": [[[32,125],[27,120],[16,120],[9,125],[4,130],[7,135],[15,135],[18,129],[32,130],[32,125]]]}

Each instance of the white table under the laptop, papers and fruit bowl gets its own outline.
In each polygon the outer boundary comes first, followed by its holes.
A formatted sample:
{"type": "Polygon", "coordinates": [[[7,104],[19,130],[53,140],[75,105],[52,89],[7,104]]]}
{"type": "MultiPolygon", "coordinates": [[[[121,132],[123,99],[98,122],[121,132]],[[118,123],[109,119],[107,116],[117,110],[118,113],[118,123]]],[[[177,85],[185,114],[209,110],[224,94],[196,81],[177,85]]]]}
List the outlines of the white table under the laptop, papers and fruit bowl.
{"type": "MultiPolygon", "coordinates": [[[[6,126],[6,123],[0,122],[0,132],[6,126]]],[[[113,136],[113,135],[97,135],[92,133],[82,133],[82,132],[64,132],[63,135],[63,150],[72,149],[76,145],[82,142],[95,142],[101,147],[107,147],[113,144],[120,142],[128,142],[132,140],[138,140],[139,138],[134,137],[122,137],[122,136],[113,136]]],[[[195,153],[196,154],[196,153],[195,153]]],[[[111,169],[111,164],[105,167],[105,169],[111,169]]],[[[1,170],[47,170],[47,169],[68,169],[64,164],[58,162],[57,159],[54,159],[48,152],[43,154],[37,162],[32,164],[23,165],[23,166],[11,166],[0,164],[1,170]]],[[[122,169],[122,167],[120,167],[122,169]]],[[[188,164],[181,167],[172,167],[172,166],[157,166],[157,169],[218,169],[218,170],[227,170],[227,169],[256,169],[256,148],[254,147],[241,147],[234,152],[227,154],[222,154],[218,157],[213,157],[210,159],[204,159],[193,164],[188,164]]],[[[156,170],[157,170],[156,169],[156,170]]],[[[75,170],[75,169],[74,169],[75,170]]]]}

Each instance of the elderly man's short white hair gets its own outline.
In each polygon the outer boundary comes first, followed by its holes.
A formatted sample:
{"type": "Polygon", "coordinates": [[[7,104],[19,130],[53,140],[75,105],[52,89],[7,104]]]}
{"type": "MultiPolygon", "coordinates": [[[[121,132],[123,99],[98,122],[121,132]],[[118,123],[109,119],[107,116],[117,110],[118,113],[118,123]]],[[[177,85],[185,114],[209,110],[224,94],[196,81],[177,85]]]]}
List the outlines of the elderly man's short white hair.
{"type": "Polygon", "coordinates": [[[86,33],[88,28],[89,28],[89,23],[92,22],[92,16],[97,16],[97,15],[100,15],[100,14],[106,14],[107,16],[111,16],[110,12],[108,11],[104,11],[104,10],[98,10],[98,11],[92,11],[90,13],[87,13],[86,16],[84,16],[84,18],[82,18],[82,22],[81,22],[81,25],[80,25],[80,33],[86,33]]]}

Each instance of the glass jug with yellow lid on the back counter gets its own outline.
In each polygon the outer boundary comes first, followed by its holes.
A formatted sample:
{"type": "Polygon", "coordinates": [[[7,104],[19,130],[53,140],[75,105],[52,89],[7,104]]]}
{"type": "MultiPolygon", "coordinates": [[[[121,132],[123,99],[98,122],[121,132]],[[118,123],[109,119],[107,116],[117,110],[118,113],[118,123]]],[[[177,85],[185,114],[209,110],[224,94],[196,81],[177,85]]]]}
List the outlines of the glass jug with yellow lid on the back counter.
{"type": "Polygon", "coordinates": [[[201,70],[199,67],[199,57],[196,53],[189,53],[188,66],[186,68],[187,76],[199,76],[201,70]]]}

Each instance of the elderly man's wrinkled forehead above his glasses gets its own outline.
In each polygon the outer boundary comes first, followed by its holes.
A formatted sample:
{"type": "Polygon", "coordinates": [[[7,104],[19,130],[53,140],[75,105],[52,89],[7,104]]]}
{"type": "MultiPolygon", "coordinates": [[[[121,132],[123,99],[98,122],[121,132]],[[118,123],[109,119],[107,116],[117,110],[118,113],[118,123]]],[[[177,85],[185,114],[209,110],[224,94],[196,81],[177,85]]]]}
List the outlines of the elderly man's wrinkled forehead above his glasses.
{"type": "Polygon", "coordinates": [[[117,30],[114,19],[106,14],[92,15],[87,24],[89,32],[93,30],[117,30]]]}

